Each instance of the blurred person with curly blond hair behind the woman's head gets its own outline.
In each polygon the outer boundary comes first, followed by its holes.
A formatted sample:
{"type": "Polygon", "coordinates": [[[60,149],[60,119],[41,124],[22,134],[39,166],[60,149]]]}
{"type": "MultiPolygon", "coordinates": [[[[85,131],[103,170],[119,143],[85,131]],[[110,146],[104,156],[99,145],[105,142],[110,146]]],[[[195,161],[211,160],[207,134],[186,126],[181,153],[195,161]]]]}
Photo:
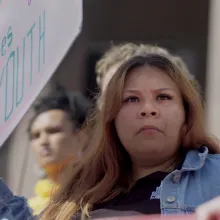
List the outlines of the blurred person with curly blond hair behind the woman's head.
{"type": "Polygon", "coordinates": [[[190,80],[195,83],[199,90],[199,84],[194,80],[193,75],[190,74],[187,65],[181,57],[172,55],[167,49],[157,45],[122,43],[110,47],[96,64],[96,82],[101,92],[103,93],[109,80],[124,61],[133,56],[145,56],[149,53],[169,56],[182,72],[189,75],[190,80]]]}

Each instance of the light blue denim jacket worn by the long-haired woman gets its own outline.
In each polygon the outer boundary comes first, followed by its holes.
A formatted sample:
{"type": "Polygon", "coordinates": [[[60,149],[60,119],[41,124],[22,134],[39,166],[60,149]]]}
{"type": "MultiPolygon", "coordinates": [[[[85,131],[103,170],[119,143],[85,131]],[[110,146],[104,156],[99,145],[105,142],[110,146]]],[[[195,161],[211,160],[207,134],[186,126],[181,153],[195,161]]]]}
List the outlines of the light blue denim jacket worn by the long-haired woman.
{"type": "Polygon", "coordinates": [[[220,154],[208,152],[207,147],[190,150],[182,168],[161,182],[158,193],[162,214],[192,213],[202,203],[220,196],[220,154]]]}

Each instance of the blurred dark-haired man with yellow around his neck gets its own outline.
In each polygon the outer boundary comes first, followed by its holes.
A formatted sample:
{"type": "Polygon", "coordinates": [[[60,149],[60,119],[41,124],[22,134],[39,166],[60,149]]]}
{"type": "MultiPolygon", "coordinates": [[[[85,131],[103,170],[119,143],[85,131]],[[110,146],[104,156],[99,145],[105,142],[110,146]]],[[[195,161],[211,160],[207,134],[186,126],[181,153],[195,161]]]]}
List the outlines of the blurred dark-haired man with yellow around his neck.
{"type": "Polygon", "coordinates": [[[46,178],[36,183],[35,197],[29,200],[35,214],[49,202],[59,185],[61,171],[77,157],[86,138],[81,127],[89,107],[89,101],[81,93],[61,89],[34,106],[34,117],[28,128],[30,146],[46,173],[46,178]]]}

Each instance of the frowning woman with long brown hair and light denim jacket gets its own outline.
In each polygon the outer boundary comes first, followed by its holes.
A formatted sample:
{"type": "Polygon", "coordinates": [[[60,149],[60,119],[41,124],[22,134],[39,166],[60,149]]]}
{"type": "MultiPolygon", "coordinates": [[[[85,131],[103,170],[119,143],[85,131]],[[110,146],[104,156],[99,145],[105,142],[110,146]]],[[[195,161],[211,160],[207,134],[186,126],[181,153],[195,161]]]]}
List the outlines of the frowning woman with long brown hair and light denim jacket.
{"type": "Polygon", "coordinates": [[[220,149],[193,85],[165,56],[119,67],[83,158],[40,219],[188,214],[220,195],[220,149]]]}

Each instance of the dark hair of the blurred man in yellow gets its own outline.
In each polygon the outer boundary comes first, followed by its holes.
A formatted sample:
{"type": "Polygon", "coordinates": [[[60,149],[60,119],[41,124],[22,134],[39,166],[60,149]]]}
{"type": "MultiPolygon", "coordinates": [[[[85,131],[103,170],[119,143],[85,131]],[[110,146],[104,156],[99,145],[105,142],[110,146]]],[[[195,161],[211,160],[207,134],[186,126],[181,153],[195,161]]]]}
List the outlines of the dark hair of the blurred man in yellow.
{"type": "Polygon", "coordinates": [[[84,124],[91,107],[90,101],[80,92],[57,89],[51,95],[41,98],[33,106],[34,116],[29,123],[30,134],[33,122],[42,113],[50,110],[62,110],[73,124],[73,128],[80,129],[84,124]]]}

